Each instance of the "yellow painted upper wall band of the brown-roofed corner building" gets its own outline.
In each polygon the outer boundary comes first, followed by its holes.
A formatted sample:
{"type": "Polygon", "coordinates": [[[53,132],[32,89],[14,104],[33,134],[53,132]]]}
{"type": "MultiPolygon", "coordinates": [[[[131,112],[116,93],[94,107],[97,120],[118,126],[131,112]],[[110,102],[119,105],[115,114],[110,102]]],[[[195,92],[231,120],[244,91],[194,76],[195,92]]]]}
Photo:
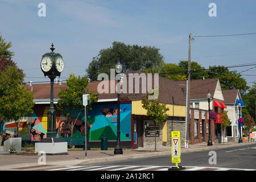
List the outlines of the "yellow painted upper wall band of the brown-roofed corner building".
{"type": "MultiPolygon", "coordinates": [[[[142,107],[142,101],[132,101],[131,102],[131,114],[136,115],[147,115],[146,109],[143,109],[142,107]]],[[[175,116],[175,117],[185,117],[186,115],[186,106],[177,106],[171,104],[166,105],[169,110],[167,111],[168,116],[175,116]],[[173,108],[174,108],[174,114],[173,114],[173,108]]]]}

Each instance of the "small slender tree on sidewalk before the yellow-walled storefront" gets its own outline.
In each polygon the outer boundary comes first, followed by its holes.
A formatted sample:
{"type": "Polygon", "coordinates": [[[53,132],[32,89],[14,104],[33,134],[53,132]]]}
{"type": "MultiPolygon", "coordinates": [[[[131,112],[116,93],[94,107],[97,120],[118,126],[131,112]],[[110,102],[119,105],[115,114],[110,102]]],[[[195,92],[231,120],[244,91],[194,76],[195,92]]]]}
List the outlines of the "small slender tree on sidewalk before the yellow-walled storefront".
{"type": "Polygon", "coordinates": [[[155,125],[155,151],[156,151],[156,123],[166,122],[168,115],[166,112],[169,110],[166,104],[160,104],[158,100],[148,100],[148,96],[153,94],[148,94],[142,100],[142,107],[147,110],[147,115],[155,125]]]}

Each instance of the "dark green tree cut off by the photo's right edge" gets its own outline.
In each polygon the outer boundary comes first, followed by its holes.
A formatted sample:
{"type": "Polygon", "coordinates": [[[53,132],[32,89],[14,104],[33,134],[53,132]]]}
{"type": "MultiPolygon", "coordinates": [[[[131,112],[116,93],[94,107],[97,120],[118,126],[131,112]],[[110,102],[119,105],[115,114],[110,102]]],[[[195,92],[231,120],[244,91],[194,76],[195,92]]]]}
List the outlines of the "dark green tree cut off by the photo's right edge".
{"type": "Polygon", "coordinates": [[[255,106],[256,106],[256,82],[248,92],[242,96],[242,100],[245,102],[245,107],[242,107],[243,114],[250,114],[253,117],[254,121],[256,120],[255,117],[255,106]]]}

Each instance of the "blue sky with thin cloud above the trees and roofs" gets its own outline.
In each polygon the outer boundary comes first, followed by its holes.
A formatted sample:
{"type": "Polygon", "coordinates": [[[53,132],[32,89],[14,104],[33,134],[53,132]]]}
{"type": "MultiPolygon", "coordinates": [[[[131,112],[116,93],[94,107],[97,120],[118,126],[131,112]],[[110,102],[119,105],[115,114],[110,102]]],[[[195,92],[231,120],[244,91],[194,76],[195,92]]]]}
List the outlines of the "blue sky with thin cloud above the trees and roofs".
{"type": "MultiPolygon", "coordinates": [[[[114,41],[160,49],[166,63],[188,59],[188,35],[225,35],[256,32],[256,1],[36,1],[0,0],[0,34],[12,42],[14,61],[25,81],[49,81],[40,69],[42,55],[51,50],[64,58],[61,80],[69,73],[85,75],[92,57],[114,41]],[[38,4],[46,16],[38,16],[38,4]],[[210,17],[209,3],[217,16],[210,17]]],[[[203,67],[256,63],[256,35],[195,38],[192,61],[203,67]],[[208,57],[206,57],[208,56],[208,57]]],[[[252,67],[236,68],[238,72],[252,67]]],[[[234,69],[230,69],[234,70],[234,69]]],[[[256,68],[243,75],[256,75],[256,68]]],[[[251,86],[256,76],[243,76],[251,86]]]]}

